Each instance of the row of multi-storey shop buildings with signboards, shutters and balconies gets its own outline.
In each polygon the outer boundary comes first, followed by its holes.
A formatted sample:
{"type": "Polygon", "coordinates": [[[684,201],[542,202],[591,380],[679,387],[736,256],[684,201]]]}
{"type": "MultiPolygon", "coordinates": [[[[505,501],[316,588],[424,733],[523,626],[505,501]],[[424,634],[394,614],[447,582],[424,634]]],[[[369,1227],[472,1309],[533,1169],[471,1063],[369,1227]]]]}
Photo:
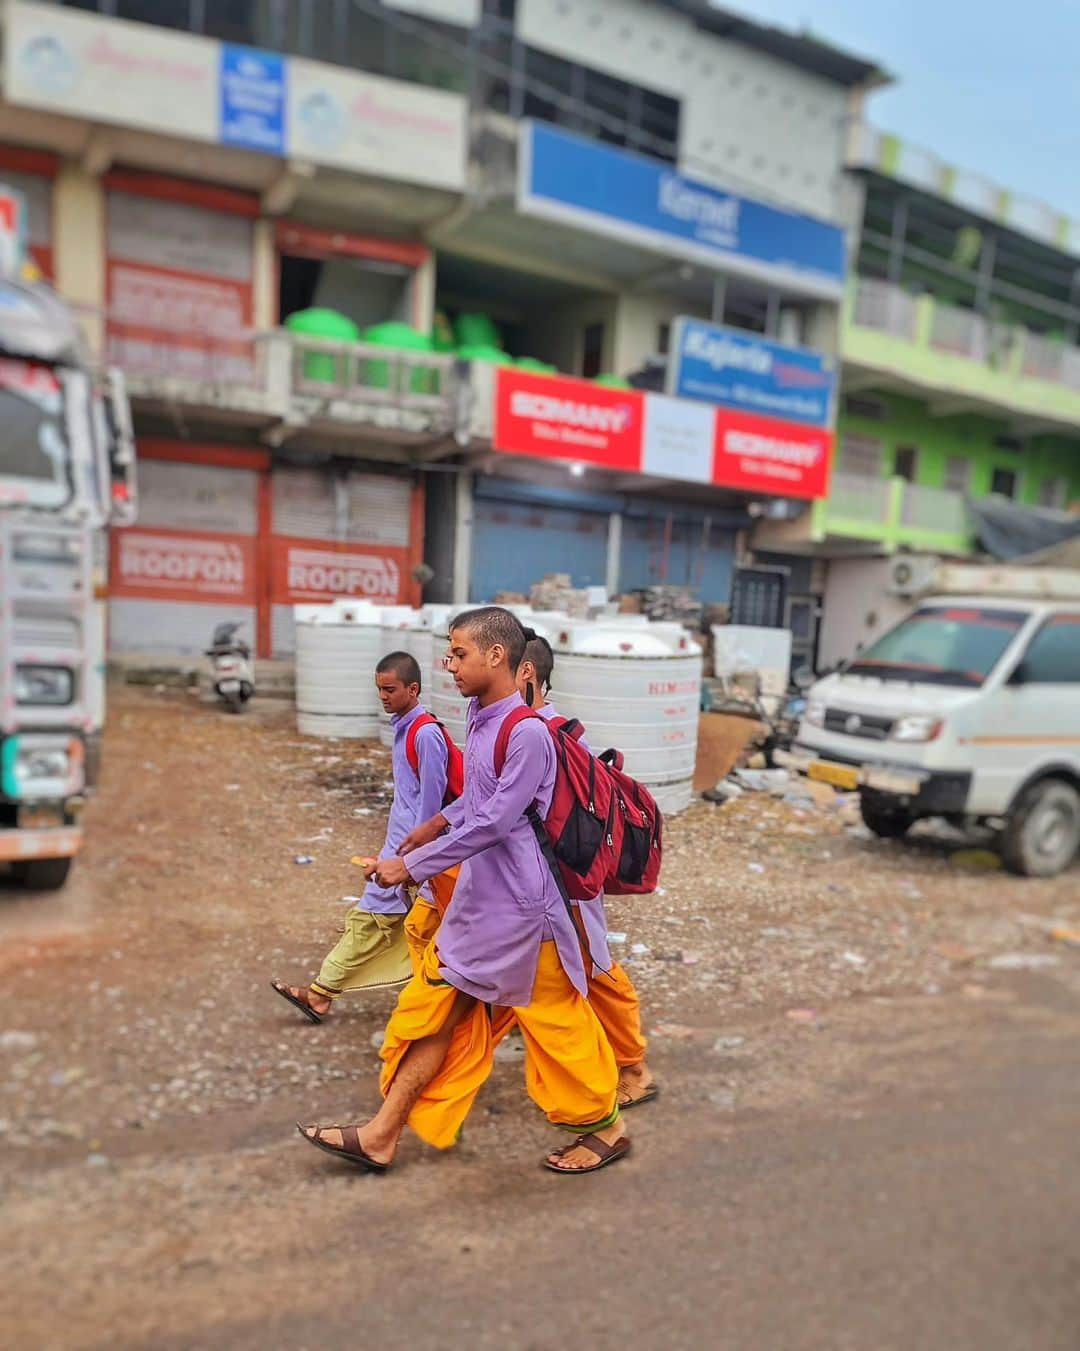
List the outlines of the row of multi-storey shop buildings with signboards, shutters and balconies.
{"type": "Polygon", "coordinates": [[[757,566],[812,657],[831,559],[1080,496],[1069,227],[911,182],[872,62],[695,0],[5,0],[3,43],[0,178],[135,404],[114,648],[757,566]]]}

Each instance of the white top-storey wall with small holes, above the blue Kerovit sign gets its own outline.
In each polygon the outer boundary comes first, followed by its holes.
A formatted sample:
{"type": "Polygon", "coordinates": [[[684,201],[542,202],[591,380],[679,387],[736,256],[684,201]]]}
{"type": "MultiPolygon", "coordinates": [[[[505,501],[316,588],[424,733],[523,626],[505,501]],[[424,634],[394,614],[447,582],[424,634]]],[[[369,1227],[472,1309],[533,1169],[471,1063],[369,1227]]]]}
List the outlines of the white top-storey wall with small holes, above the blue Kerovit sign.
{"type": "Polygon", "coordinates": [[[842,85],[649,0],[519,0],[518,35],[680,99],[684,173],[843,223],[842,85]]]}

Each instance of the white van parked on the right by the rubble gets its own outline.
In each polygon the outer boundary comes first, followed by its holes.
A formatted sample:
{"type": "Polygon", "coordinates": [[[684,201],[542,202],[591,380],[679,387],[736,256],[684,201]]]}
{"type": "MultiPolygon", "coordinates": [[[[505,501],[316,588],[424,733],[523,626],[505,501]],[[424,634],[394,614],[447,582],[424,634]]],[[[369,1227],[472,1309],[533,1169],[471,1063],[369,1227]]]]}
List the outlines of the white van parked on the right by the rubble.
{"type": "Polygon", "coordinates": [[[858,789],[877,835],[991,824],[1007,867],[1049,877],[1080,850],[1080,573],[950,574],[987,585],[922,600],[818,681],[785,763],[858,789]]]}

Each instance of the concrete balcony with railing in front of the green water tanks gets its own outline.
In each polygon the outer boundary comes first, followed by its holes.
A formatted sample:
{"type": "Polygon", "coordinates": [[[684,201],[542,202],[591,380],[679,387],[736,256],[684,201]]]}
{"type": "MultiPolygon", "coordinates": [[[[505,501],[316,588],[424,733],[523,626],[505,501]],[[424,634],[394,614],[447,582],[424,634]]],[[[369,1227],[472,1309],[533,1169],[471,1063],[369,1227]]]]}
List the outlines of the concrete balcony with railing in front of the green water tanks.
{"type": "Polygon", "coordinates": [[[169,407],[257,427],[280,444],[297,432],[365,434],[392,443],[450,436],[460,363],[441,353],[341,343],[284,328],[237,335],[128,331],[108,322],[99,359],[119,366],[137,408],[169,407]]]}

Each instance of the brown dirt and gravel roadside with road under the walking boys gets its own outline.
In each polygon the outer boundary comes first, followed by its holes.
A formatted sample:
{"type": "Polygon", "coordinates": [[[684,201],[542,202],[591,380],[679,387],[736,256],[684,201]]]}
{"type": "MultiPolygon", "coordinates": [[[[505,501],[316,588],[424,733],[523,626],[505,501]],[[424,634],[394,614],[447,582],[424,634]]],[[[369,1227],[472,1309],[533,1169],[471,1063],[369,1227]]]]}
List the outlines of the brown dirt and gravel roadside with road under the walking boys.
{"type": "Polygon", "coordinates": [[[383,753],[122,690],[105,754],[69,888],[0,889],[4,1344],[1080,1344],[1076,870],[695,807],[611,907],[665,1089],[631,1159],[542,1173],[511,1042],[458,1150],[368,1178],[292,1123],[370,1108],[391,996],[314,1028],[266,982],[360,889],[383,753]]]}

